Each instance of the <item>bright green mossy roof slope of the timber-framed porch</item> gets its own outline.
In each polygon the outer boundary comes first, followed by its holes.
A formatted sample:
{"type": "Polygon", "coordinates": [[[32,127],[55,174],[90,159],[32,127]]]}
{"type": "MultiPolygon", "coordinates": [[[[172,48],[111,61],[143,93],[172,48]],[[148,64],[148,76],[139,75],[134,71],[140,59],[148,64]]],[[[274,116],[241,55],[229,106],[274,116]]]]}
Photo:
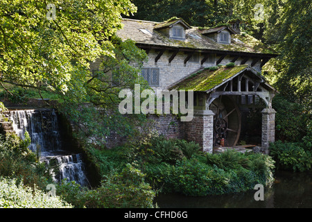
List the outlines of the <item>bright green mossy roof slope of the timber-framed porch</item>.
{"type": "Polygon", "coordinates": [[[216,70],[211,70],[211,68],[202,69],[187,76],[170,88],[207,92],[248,68],[248,65],[237,65],[234,67],[218,67],[216,70]]]}

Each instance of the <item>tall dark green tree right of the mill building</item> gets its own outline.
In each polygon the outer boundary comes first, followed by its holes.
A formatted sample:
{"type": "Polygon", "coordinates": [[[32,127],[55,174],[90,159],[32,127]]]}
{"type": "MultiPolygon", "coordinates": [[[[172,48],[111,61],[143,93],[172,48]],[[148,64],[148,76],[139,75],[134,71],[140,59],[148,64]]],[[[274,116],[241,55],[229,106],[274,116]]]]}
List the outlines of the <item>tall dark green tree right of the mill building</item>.
{"type": "Polygon", "coordinates": [[[268,78],[290,101],[312,110],[312,3],[288,0],[277,10],[278,18],[266,27],[266,41],[280,56],[265,67],[268,78]]]}

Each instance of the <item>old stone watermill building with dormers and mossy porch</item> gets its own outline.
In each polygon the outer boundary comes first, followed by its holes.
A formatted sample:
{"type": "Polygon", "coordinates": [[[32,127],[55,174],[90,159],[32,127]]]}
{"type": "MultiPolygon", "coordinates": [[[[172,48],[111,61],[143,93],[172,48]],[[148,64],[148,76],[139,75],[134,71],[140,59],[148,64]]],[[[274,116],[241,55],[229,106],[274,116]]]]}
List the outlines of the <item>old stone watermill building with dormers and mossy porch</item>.
{"type": "Polygon", "coordinates": [[[141,75],[150,87],[193,90],[194,117],[175,124],[178,135],[183,130],[184,139],[198,142],[207,152],[214,146],[235,146],[242,108],[263,105],[261,146],[267,150],[275,139],[272,98],[276,90],[261,76],[261,67],[277,56],[273,51],[239,31],[237,23],[198,28],[176,17],[166,22],[123,19],[122,23],[117,35],[135,41],[148,54],[141,75]]]}

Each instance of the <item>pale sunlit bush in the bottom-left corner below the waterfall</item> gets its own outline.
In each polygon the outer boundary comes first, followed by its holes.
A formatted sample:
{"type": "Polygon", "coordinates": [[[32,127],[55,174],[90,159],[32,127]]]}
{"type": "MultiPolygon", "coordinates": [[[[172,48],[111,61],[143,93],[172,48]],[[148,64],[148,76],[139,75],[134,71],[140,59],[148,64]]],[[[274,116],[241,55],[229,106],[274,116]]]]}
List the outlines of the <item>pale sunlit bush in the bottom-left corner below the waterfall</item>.
{"type": "Polygon", "coordinates": [[[24,186],[17,180],[0,178],[0,207],[14,208],[70,208],[58,196],[48,196],[40,189],[24,186]]]}

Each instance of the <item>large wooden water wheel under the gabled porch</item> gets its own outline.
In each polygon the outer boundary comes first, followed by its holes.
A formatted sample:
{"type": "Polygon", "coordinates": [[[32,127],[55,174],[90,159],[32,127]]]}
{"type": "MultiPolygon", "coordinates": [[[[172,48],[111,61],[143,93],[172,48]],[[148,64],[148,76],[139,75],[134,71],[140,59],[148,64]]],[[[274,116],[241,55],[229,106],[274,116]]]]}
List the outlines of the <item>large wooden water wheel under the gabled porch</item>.
{"type": "Polygon", "coordinates": [[[241,134],[241,112],[228,96],[219,96],[209,106],[214,112],[214,146],[220,146],[220,139],[225,139],[225,146],[235,146],[241,134]]]}

